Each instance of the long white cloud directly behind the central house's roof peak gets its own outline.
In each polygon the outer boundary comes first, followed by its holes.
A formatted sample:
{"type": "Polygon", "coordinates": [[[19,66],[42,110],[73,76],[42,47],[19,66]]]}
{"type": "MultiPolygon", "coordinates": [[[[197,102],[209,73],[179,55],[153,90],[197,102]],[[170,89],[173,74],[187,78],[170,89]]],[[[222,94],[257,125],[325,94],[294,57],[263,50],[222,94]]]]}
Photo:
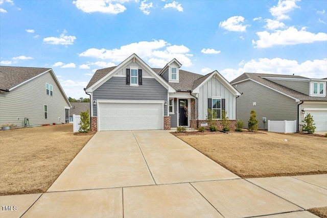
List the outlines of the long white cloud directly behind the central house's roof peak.
{"type": "Polygon", "coordinates": [[[190,51],[190,49],[184,45],[171,45],[160,39],[134,42],[112,50],[92,48],[79,54],[79,56],[121,62],[135,53],[143,60],[148,61],[153,67],[164,67],[173,58],[176,58],[183,66],[191,66],[190,57],[193,54],[185,53],[186,51],[190,51]]]}

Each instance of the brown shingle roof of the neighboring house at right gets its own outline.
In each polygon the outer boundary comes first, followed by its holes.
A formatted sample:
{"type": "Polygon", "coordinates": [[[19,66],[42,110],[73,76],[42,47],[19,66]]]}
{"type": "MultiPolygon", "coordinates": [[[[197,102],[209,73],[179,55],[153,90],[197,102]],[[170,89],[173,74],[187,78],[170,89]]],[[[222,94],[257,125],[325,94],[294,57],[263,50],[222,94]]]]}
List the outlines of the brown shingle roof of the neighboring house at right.
{"type": "Polygon", "coordinates": [[[270,80],[264,79],[262,77],[276,77],[276,78],[294,78],[294,79],[309,79],[306,77],[300,77],[300,76],[292,76],[292,75],[277,75],[277,74],[254,74],[254,73],[249,73],[249,72],[245,72],[244,74],[242,74],[241,76],[239,76],[238,78],[236,78],[235,80],[231,81],[230,83],[236,83],[236,82],[240,82],[242,80],[246,80],[246,79],[252,79],[256,82],[259,82],[263,85],[266,85],[268,87],[271,87],[275,90],[281,91],[285,94],[288,94],[290,96],[292,96],[293,98],[296,98],[300,101],[327,101],[327,97],[311,97],[309,95],[303,94],[301,92],[295,91],[293,89],[290,89],[286,86],[274,83],[270,80]]]}

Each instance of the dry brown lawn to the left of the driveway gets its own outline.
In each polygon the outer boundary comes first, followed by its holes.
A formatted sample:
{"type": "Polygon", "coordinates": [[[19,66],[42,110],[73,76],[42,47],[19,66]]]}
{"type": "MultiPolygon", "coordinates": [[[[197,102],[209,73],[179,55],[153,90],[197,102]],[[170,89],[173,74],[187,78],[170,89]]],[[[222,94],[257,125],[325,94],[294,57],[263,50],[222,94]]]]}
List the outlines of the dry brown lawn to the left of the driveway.
{"type": "Polygon", "coordinates": [[[92,136],[72,124],[0,131],[0,195],[45,192],[92,136]]]}

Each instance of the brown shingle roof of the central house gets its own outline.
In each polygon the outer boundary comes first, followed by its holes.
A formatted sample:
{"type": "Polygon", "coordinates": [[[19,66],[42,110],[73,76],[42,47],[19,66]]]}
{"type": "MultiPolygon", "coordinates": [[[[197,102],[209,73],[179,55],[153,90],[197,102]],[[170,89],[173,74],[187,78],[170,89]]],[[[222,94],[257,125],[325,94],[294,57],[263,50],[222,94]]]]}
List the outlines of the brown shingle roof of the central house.
{"type": "MultiPolygon", "coordinates": [[[[86,88],[90,87],[91,85],[95,84],[97,81],[99,81],[101,78],[106,76],[111,70],[113,70],[116,66],[108,67],[104,69],[98,69],[90,82],[87,84],[86,88]]],[[[161,71],[162,68],[152,68],[153,71],[155,71],[157,74],[161,71]]],[[[208,74],[210,75],[210,74],[208,74]]],[[[200,75],[200,74],[194,74],[193,72],[185,71],[185,70],[179,70],[179,83],[169,83],[174,89],[180,90],[180,91],[189,91],[193,90],[194,84],[197,80],[203,78],[205,80],[208,75],[200,75]]],[[[203,81],[202,80],[202,81],[203,81]]],[[[202,82],[199,80],[200,83],[202,82]]],[[[198,81],[198,82],[199,82],[198,81]]],[[[198,83],[198,85],[200,84],[198,83]]],[[[196,87],[196,86],[195,86],[196,87]]],[[[195,88],[194,87],[194,88],[195,88]]]]}

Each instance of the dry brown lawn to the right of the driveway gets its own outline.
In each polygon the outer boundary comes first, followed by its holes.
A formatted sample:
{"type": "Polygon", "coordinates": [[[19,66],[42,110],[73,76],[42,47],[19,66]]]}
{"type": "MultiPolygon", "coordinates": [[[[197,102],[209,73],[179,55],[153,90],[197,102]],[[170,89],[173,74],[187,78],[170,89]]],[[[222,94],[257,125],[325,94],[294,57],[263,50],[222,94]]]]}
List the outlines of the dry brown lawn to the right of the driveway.
{"type": "Polygon", "coordinates": [[[326,137],[270,132],[178,137],[242,178],[327,173],[326,137]]]}

